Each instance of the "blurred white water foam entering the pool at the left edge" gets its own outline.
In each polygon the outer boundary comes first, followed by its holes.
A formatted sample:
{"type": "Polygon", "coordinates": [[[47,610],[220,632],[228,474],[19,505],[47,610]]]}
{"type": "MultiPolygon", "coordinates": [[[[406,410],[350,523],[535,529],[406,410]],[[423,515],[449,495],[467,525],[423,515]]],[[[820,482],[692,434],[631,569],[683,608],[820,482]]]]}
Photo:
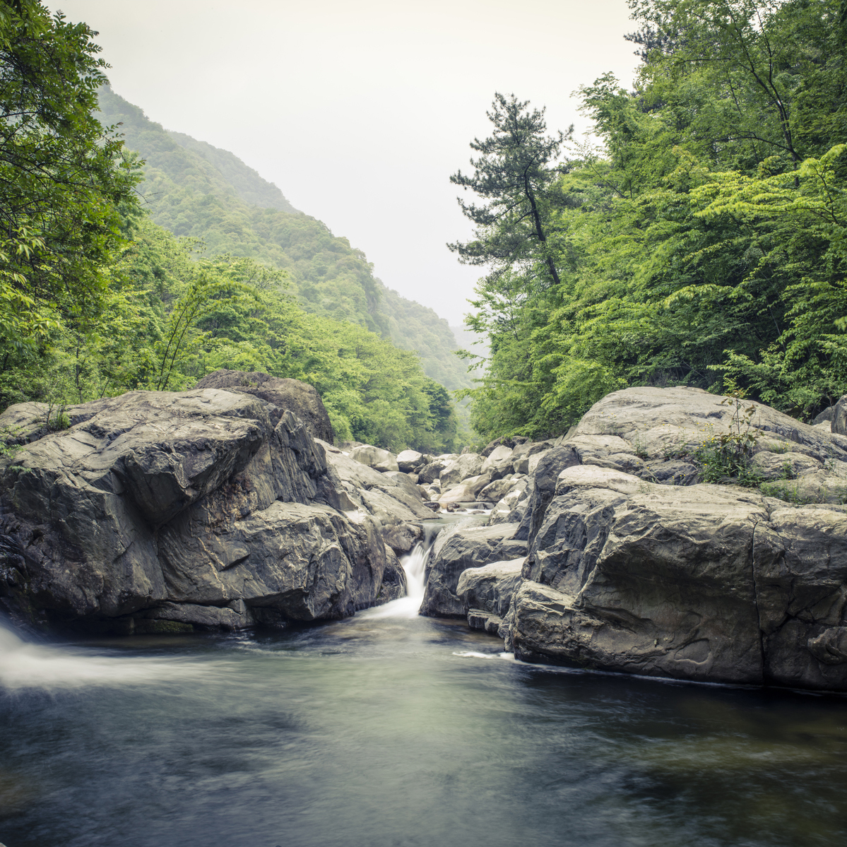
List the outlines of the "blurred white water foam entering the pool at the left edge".
{"type": "Polygon", "coordinates": [[[196,663],[97,656],[71,647],[31,644],[0,625],[0,689],[80,689],[91,685],[178,681],[201,672],[196,663]]]}

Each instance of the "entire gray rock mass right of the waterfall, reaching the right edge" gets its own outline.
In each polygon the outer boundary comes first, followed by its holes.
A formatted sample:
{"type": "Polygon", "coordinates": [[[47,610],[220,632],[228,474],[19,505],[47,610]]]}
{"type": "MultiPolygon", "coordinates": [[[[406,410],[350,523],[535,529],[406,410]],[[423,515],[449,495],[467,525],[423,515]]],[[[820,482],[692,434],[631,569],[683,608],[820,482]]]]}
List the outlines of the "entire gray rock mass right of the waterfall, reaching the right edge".
{"type": "Polygon", "coordinates": [[[838,418],[828,432],[700,390],[614,392],[555,446],[501,451],[529,482],[492,512],[503,534],[457,526],[440,540],[423,611],[464,612],[523,661],[847,691],[838,418]],[[710,445],[748,418],[753,487],[702,483],[710,445]],[[515,562],[495,574],[487,563],[521,543],[520,578],[515,562]]]}

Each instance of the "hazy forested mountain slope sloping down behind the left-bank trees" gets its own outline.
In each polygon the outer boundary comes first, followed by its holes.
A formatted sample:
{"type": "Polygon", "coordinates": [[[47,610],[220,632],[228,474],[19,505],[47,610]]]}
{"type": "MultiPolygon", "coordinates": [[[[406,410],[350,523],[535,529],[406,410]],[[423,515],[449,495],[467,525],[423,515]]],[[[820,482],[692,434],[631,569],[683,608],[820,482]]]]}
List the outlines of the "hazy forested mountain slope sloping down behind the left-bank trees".
{"type": "Polygon", "coordinates": [[[471,385],[446,320],[375,279],[346,238],[296,211],[232,153],[164,130],[108,86],[99,97],[102,123],[120,124],[126,146],[146,161],[139,191],[155,223],[202,239],[202,255],[230,253],[285,269],[308,313],[359,324],[418,352],[424,372],[448,389],[471,385]]]}

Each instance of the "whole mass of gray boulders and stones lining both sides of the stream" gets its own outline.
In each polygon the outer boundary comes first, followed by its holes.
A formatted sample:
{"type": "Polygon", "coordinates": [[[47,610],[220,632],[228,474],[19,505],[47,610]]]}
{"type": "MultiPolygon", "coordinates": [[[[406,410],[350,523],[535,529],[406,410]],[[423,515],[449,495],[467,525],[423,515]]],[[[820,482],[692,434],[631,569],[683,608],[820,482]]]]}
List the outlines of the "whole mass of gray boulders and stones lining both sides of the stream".
{"type": "Polygon", "coordinates": [[[335,446],[317,394],[265,374],[66,415],[58,431],[38,404],[0,416],[19,444],[0,596],[20,624],[348,617],[405,592],[398,556],[426,520],[476,506],[485,525],[435,541],[424,615],[466,618],[527,662],[847,690],[840,405],[809,426],[700,390],[628,389],[556,440],[458,456],[335,446]],[[742,441],[743,479],[716,479],[742,441]]]}

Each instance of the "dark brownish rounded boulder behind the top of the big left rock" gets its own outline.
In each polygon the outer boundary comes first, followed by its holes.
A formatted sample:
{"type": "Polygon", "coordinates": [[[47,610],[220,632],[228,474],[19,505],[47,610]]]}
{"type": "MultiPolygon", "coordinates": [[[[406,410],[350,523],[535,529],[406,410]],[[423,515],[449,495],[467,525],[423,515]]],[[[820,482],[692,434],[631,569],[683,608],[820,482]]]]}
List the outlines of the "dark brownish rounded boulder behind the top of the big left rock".
{"type": "Polygon", "coordinates": [[[272,424],[276,424],[281,413],[287,409],[302,420],[308,434],[313,438],[329,441],[330,444],[334,439],[329,414],[318,391],[313,385],[307,385],[299,379],[282,379],[259,371],[248,373],[221,369],[204,376],[194,388],[218,388],[258,397],[279,410],[270,410],[272,424]]]}

